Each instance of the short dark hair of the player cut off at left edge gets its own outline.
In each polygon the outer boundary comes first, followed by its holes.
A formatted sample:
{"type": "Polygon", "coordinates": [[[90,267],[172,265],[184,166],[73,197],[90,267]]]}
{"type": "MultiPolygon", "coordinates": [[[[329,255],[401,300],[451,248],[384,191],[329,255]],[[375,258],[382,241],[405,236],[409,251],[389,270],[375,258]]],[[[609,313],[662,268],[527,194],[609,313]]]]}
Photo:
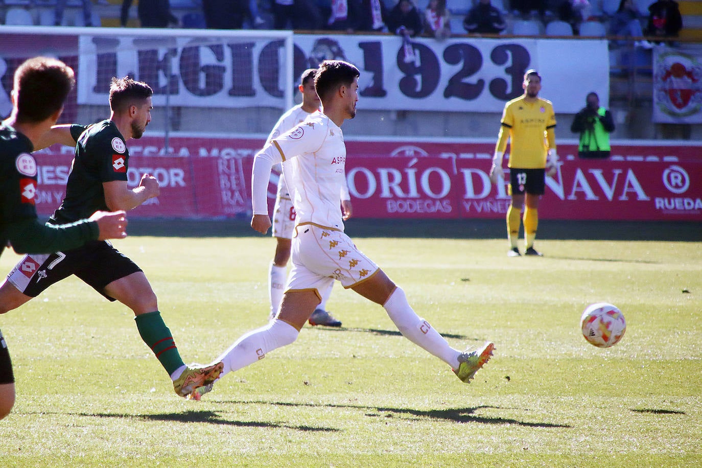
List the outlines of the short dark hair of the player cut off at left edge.
{"type": "Polygon", "coordinates": [[[73,69],[50,57],[34,57],[18,67],[14,77],[17,121],[41,122],[63,107],[76,83],[73,69]]]}

